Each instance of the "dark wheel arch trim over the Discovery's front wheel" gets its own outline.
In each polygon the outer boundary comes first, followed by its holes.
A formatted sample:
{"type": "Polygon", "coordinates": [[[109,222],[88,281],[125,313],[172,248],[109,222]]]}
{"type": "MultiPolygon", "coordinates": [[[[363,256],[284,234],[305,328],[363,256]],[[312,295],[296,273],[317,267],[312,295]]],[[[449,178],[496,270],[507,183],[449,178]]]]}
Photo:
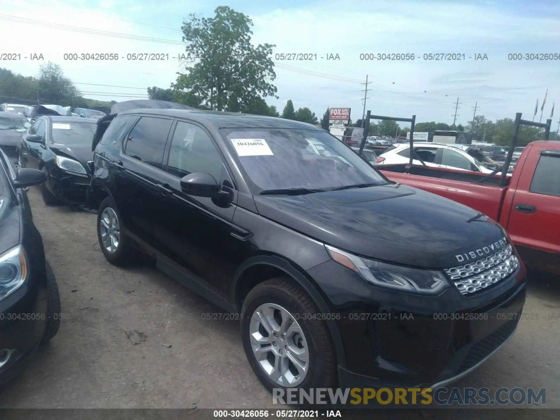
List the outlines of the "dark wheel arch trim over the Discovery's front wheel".
{"type": "MultiPolygon", "coordinates": [[[[329,314],[331,312],[323,296],[321,296],[320,292],[311,281],[302,274],[300,270],[290,264],[290,262],[277,255],[253,256],[240,265],[230,287],[230,301],[235,309],[238,312],[241,311],[244,298],[251,288],[270,278],[278,277],[279,275],[289,276],[301,286],[315,302],[320,312],[323,314],[329,314]],[[267,275],[264,277],[255,277],[255,274],[258,276],[261,273],[266,273],[267,275]]],[[[326,325],[333,339],[338,366],[346,368],[346,356],[338,325],[333,319],[326,320],[326,325]]]]}

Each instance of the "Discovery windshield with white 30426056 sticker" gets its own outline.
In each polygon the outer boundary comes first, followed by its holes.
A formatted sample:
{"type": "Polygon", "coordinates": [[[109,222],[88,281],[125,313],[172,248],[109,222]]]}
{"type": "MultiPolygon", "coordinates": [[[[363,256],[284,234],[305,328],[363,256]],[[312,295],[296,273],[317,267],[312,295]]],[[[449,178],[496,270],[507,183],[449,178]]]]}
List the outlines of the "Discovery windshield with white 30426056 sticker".
{"type": "Polygon", "coordinates": [[[222,129],[254,194],[312,193],[387,181],[331,134],[318,130],[222,129]],[[288,192],[286,192],[288,193],[288,192]]]}

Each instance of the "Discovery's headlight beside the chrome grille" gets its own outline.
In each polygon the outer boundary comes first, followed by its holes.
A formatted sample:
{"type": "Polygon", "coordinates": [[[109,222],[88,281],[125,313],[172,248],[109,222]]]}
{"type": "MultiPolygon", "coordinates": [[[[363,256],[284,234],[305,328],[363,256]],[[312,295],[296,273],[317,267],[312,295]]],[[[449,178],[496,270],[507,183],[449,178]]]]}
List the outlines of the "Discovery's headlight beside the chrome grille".
{"type": "Polygon", "coordinates": [[[369,260],[325,245],[330,257],[376,286],[433,295],[447,287],[444,273],[369,260]]]}

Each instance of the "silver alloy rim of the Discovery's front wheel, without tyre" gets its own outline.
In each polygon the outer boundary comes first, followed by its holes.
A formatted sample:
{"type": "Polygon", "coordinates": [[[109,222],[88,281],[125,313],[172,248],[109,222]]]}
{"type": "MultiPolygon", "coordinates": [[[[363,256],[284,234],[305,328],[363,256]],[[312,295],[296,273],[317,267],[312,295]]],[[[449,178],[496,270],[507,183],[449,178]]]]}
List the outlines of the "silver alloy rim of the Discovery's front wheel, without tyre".
{"type": "Polygon", "coordinates": [[[251,348],[269,379],[293,388],[309,372],[309,347],[296,319],[276,304],[260,305],[251,316],[251,348]]]}

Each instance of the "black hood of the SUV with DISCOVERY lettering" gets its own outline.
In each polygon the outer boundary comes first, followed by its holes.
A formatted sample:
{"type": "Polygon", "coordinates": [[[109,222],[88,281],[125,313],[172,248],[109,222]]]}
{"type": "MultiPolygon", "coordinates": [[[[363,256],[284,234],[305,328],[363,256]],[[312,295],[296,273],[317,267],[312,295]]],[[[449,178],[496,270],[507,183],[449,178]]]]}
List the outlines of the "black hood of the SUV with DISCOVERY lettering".
{"type": "Polygon", "coordinates": [[[413,267],[456,267],[456,255],[504,239],[482,213],[402,184],[254,199],[263,217],[316,240],[413,267]]]}

